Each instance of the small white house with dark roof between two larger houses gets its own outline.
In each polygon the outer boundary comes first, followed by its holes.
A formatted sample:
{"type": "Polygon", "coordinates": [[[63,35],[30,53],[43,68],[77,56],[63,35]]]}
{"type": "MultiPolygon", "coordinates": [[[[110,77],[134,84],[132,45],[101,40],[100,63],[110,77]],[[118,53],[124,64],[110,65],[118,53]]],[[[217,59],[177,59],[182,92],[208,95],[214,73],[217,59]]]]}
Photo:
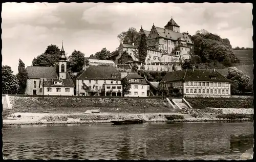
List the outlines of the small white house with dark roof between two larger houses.
{"type": "Polygon", "coordinates": [[[127,78],[131,84],[130,92],[127,97],[147,97],[147,83],[143,77],[138,74],[129,74],[127,78]]]}

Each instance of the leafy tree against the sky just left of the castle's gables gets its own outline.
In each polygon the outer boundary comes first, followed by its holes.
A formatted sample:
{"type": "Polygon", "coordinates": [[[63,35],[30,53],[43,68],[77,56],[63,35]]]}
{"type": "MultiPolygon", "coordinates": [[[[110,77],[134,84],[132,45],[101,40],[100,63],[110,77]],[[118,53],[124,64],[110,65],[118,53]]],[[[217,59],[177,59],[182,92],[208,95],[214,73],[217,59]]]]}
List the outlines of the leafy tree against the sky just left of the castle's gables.
{"type": "Polygon", "coordinates": [[[117,35],[117,39],[123,44],[133,44],[137,41],[139,32],[135,28],[131,27],[126,32],[121,32],[117,35]]]}

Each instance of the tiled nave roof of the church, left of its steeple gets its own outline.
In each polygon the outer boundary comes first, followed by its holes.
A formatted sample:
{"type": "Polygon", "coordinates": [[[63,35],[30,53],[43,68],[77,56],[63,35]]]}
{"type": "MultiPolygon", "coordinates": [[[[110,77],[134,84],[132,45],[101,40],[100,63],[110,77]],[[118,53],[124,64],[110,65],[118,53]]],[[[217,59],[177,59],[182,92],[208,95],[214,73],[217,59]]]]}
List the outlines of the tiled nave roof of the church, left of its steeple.
{"type": "Polygon", "coordinates": [[[45,67],[45,66],[27,66],[28,78],[39,79],[43,78],[58,78],[57,67],[45,67]]]}

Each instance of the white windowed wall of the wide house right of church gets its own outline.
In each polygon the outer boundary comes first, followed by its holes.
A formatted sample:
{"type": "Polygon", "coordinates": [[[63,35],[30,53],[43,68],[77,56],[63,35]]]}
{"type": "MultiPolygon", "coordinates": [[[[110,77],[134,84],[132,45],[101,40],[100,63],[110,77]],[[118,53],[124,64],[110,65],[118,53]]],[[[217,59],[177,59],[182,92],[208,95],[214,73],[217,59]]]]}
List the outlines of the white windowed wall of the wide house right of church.
{"type": "Polygon", "coordinates": [[[95,84],[94,89],[96,88],[96,86],[98,86],[98,89],[102,89],[103,84],[116,84],[116,81],[117,81],[117,85],[121,84],[121,80],[115,80],[115,78],[113,78],[113,80],[105,80],[105,81],[106,82],[104,83],[104,80],[100,80],[100,79],[99,80],[76,79],[76,94],[77,95],[79,95],[80,93],[86,94],[86,90],[82,89],[82,86],[83,86],[82,82],[85,83],[87,86],[91,86],[91,88],[93,88],[93,85],[95,84]],[[113,83],[111,83],[111,81],[113,81],[113,83]]]}

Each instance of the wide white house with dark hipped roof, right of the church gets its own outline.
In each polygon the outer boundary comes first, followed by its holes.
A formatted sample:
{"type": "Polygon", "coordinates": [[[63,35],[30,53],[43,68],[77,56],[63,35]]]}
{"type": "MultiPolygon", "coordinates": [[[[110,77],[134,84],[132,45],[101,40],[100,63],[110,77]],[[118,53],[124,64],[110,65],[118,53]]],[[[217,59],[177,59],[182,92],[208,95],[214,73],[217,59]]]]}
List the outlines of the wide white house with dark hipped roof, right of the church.
{"type": "Polygon", "coordinates": [[[76,78],[80,96],[122,96],[121,73],[113,66],[89,66],[76,78]]]}

